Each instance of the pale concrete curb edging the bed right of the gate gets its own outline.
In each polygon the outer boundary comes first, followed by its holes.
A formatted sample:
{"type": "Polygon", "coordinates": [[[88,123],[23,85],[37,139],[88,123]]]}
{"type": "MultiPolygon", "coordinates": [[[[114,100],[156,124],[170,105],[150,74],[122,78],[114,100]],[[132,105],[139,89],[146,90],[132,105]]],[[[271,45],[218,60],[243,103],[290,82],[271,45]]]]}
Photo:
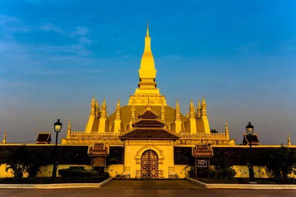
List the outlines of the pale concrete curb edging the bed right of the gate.
{"type": "Polygon", "coordinates": [[[204,188],[211,189],[244,189],[244,190],[296,190],[296,185],[271,185],[271,184],[209,184],[187,178],[186,180],[204,188]]]}

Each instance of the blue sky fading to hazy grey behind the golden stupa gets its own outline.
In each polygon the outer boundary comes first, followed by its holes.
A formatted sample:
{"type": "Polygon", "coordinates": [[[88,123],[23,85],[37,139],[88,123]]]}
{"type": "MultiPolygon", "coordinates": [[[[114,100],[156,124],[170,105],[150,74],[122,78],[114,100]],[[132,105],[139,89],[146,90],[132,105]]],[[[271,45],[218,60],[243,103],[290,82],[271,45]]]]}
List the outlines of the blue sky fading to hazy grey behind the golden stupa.
{"type": "MultiPolygon", "coordinates": [[[[295,0],[0,0],[0,136],[36,140],[59,118],[84,131],[95,95],[109,114],[139,82],[146,20],[167,103],[205,95],[211,129],[296,145],[295,0]],[[184,3],[186,2],[186,3],[184,3]]],[[[1,140],[1,139],[0,139],[1,140]]],[[[52,140],[55,137],[52,136],[52,140]]],[[[59,140],[60,141],[60,140],[59,140]]]]}

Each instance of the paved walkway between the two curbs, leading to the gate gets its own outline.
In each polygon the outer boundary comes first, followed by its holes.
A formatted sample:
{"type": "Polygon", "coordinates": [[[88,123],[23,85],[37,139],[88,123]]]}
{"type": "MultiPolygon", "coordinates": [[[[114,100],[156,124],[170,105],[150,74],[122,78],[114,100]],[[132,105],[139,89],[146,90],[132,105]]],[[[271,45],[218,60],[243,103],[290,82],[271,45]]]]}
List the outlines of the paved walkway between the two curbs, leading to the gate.
{"type": "Polygon", "coordinates": [[[102,189],[205,189],[187,180],[112,180],[102,189]]]}

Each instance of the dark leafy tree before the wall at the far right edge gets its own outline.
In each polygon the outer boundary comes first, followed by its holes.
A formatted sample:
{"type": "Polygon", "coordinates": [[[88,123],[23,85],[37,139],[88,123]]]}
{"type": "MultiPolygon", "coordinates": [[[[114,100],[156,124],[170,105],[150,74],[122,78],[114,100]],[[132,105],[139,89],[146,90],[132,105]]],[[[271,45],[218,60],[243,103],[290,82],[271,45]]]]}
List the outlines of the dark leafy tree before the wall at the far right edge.
{"type": "Polygon", "coordinates": [[[265,158],[265,169],[275,179],[286,181],[292,173],[296,173],[296,152],[281,145],[277,149],[269,149],[265,158]]]}

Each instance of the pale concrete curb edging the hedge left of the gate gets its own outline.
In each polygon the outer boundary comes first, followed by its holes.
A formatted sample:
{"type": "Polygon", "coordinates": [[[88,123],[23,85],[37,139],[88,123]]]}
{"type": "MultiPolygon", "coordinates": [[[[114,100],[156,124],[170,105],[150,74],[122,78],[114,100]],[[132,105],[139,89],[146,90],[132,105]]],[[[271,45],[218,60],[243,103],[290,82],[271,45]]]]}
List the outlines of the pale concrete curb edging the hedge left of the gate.
{"type": "Polygon", "coordinates": [[[113,177],[101,183],[64,183],[64,184],[0,184],[0,189],[69,189],[69,188],[100,188],[109,183],[113,177]]]}

